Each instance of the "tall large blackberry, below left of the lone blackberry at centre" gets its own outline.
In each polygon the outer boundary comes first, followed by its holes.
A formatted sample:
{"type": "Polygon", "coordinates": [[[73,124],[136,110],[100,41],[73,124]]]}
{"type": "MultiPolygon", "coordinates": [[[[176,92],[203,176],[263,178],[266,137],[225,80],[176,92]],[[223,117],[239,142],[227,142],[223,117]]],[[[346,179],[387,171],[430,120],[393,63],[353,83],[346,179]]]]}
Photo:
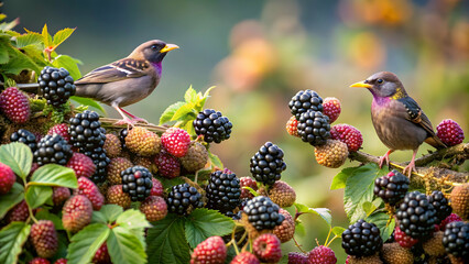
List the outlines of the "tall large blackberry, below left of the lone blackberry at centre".
{"type": "Polygon", "coordinates": [[[210,175],[207,193],[207,208],[230,212],[241,204],[241,188],[236,174],[217,170],[210,175]]]}

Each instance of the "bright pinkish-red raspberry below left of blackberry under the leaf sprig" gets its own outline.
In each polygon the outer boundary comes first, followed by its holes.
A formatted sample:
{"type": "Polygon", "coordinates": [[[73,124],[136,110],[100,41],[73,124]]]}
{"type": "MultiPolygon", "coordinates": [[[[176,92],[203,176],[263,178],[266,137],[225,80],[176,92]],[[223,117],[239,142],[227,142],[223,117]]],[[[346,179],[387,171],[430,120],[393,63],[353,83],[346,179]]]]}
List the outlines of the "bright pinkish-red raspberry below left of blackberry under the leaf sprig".
{"type": "Polygon", "coordinates": [[[161,135],[164,148],[175,157],[186,155],[190,146],[190,135],[178,128],[170,128],[161,135]]]}

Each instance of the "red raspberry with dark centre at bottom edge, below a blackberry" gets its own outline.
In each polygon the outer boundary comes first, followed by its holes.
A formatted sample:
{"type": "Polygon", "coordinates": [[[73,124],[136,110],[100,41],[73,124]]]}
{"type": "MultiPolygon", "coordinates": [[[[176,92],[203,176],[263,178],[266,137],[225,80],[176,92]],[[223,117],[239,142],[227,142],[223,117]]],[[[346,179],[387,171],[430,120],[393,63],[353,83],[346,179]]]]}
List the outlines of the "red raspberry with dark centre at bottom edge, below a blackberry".
{"type": "Polygon", "coordinates": [[[254,240],[252,249],[261,262],[277,263],[282,258],[280,244],[280,240],[275,234],[264,233],[254,240]]]}

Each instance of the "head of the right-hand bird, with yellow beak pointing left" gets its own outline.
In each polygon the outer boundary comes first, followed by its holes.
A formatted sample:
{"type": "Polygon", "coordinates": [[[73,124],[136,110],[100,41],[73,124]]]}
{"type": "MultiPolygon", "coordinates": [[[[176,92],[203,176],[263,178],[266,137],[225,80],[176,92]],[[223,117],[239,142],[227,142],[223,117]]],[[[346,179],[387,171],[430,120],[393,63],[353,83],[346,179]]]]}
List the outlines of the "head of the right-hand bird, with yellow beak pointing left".
{"type": "Polygon", "coordinates": [[[368,88],[373,97],[400,99],[407,96],[401,80],[390,72],[380,72],[350,87],[368,88]]]}

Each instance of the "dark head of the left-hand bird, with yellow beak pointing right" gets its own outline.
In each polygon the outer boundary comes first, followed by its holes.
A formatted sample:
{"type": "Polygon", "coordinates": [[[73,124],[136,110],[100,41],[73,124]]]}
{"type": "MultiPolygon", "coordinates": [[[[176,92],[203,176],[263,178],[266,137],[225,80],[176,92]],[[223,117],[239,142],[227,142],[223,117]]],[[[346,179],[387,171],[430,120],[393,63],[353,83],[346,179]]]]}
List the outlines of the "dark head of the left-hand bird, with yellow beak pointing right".
{"type": "Polygon", "coordinates": [[[138,46],[129,57],[135,59],[146,59],[151,63],[161,63],[170,51],[179,48],[175,44],[166,44],[160,40],[148,41],[138,46]]]}

